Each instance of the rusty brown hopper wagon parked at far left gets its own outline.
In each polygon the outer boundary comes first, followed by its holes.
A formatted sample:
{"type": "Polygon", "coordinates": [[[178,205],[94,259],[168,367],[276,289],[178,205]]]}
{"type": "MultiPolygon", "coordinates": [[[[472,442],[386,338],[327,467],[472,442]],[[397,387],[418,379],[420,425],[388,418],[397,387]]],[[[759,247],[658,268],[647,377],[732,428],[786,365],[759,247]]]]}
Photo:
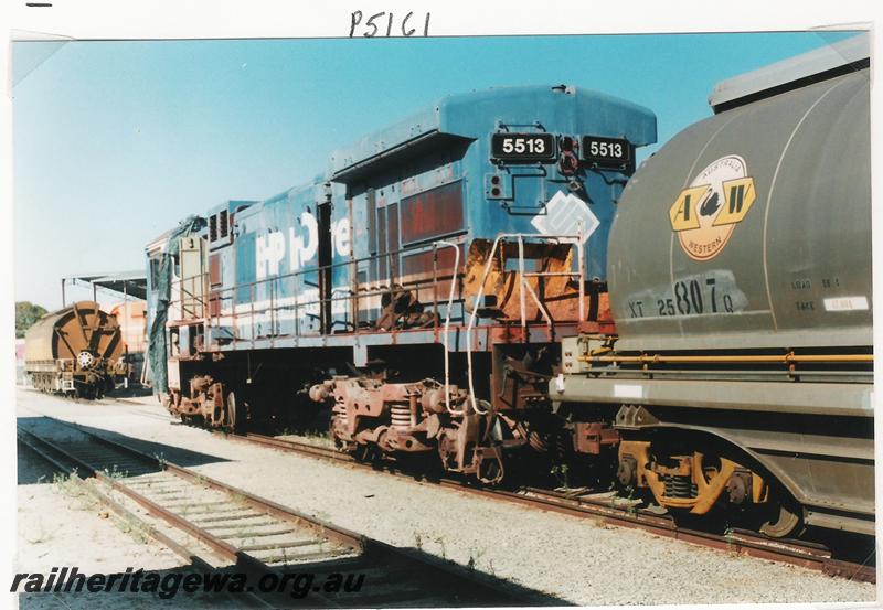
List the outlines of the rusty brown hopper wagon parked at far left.
{"type": "Polygon", "coordinates": [[[99,397],[126,374],[116,318],[93,301],[49,313],[24,336],[24,370],[36,389],[99,397]]]}

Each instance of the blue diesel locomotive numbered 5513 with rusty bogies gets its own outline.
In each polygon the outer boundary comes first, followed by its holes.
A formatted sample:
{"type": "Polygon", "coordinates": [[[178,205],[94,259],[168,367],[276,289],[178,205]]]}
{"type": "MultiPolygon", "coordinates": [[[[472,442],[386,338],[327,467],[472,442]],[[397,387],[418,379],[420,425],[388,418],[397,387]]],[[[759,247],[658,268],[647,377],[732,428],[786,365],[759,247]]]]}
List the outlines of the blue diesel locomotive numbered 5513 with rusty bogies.
{"type": "MultiPolygon", "coordinates": [[[[156,389],[233,429],[318,402],[341,450],[499,482],[561,436],[561,338],[613,329],[608,232],[655,141],[650,110],[588,89],[454,95],[307,185],[189,217],[147,248],[156,389]]],[[[609,422],[570,426],[615,451],[609,422]]]]}

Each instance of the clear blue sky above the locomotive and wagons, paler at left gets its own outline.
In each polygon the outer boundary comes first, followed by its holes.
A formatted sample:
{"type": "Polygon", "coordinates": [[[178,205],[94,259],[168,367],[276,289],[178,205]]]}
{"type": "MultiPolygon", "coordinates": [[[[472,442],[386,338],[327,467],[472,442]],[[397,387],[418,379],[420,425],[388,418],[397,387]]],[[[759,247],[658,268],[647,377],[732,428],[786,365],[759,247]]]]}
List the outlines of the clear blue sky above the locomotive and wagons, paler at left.
{"type": "Polygon", "coordinates": [[[848,35],[19,42],[15,300],[55,309],[63,276],[142,268],[185,215],[302,183],[449,93],[579,85],[651,108],[664,143],[716,82],[848,35]]]}

